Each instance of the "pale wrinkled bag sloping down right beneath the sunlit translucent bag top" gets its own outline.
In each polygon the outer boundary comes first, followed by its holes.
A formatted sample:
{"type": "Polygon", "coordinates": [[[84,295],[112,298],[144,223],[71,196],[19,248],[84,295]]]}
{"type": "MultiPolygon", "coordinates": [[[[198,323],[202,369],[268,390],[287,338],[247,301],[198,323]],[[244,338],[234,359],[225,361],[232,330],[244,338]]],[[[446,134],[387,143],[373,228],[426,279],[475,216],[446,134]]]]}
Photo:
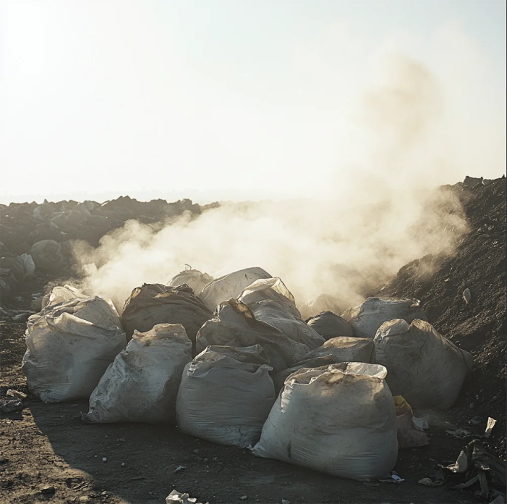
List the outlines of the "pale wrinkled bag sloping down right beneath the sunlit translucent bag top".
{"type": "Polygon", "coordinates": [[[309,350],[320,347],[324,338],[299,317],[287,310],[286,303],[266,299],[250,305],[257,320],[280,329],[288,338],[306,345],[309,350]]]}

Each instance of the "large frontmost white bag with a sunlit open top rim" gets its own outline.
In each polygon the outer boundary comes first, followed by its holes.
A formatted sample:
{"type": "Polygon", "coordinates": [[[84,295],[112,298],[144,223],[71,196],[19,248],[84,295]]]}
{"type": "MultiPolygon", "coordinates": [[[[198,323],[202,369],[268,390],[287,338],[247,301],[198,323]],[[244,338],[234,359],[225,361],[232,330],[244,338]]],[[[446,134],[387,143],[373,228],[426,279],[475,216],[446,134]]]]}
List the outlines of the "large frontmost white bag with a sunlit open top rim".
{"type": "Polygon", "coordinates": [[[334,476],[386,476],[398,453],[385,367],[343,362],[301,369],[285,386],[253,453],[334,476]]]}

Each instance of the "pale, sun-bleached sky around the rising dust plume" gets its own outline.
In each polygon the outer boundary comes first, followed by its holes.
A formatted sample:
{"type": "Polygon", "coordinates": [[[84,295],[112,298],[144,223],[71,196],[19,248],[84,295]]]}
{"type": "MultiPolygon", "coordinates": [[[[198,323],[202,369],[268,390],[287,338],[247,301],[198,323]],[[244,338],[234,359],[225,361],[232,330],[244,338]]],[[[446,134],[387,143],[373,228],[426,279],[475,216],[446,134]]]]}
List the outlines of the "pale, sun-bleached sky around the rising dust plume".
{"type": "Polygon", "coordinates": [[[0,5],[0,203],[333,197],[382,174],[360,110],[391,53],[442,88],[431,182],[505,172],[504,0],[0,5]]]}

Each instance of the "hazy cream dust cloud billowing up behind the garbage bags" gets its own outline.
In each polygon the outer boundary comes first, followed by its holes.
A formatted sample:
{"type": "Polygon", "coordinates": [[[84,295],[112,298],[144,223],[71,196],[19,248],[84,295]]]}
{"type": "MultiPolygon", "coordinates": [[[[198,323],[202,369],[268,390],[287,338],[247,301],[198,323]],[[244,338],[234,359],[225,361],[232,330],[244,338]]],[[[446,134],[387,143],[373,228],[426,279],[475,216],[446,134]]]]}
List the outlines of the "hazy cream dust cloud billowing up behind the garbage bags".
{"type": "MultiPolygon", "coordinates": [[[[454,193],[434,189],[439,174],[453,170],[444,101],[428,69],[391,57],[384,82],[361,102],[371,161],[341,172],[333,199],[222,203],[157,226],[128,221],[96,249],[75,244],[80,288],[121,308],[134,287],[166,283],[185,264],[215,278],[260,266],[280,277],[298,304],[321,293],[336,296],[342,310],[360,303],[407,262],[452,254],[466,229],[454,193]]],[[[255,174],[238,176],[255,181],[255,174]]]]}

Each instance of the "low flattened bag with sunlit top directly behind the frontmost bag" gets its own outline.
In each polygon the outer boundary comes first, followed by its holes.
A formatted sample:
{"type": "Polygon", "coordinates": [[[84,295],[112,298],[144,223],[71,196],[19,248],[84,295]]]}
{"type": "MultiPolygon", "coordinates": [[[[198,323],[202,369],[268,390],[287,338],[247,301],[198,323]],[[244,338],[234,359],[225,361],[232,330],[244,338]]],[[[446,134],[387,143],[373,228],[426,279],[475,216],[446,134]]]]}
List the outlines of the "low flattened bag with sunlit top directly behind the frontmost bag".
{"type": "Polygon", "coordinates": [[[273,377],[278,393],[285,380],[303,367],[313,368],[340,362],[375,362],[375,344],[370,338],[332,338],[321,347],[307,353],[293,366],[280,371],[273,377]]]}

